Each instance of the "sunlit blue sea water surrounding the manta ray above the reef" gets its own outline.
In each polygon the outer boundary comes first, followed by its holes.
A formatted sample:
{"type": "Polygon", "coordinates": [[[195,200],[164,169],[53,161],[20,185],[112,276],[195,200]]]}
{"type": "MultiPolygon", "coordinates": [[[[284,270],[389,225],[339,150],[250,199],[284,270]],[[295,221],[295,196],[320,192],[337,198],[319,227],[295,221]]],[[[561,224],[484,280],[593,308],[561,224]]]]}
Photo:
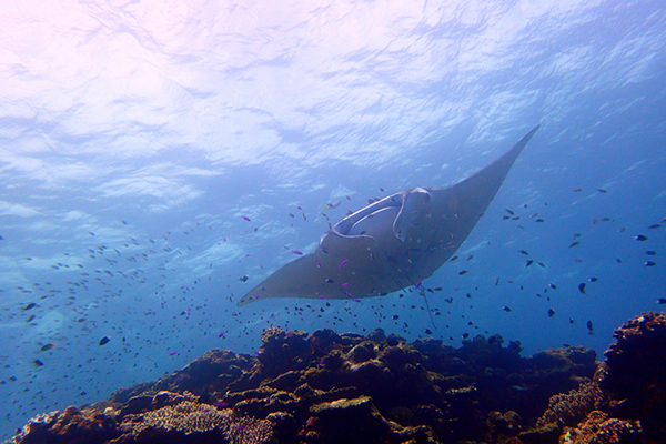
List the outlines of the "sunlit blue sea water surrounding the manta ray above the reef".
{"type": "Polygon", "coordinates": [[[252,353],[271,324],[602,353],[666,297],[660,0],[12,3],[4,437],[211,347],[252,353]],[[325,204],[342,201],[335,222],[369,198],[450,185],[537,123],[460,259],[424,282],[443,289],[427,293],[435,327],[408,290],[236,309],[292,250],[316,246],[325,204]]]}

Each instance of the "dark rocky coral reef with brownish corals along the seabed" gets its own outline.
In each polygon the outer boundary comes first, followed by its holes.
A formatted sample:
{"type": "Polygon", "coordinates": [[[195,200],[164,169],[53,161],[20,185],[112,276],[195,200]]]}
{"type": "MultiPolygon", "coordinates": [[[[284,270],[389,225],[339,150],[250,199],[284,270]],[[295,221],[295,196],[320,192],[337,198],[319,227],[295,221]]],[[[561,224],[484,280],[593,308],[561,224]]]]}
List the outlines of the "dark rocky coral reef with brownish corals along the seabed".
{"type": "Polygon", "coordinates": [[[269,327],[256,356],[210,351],[107,401],[38,416],[13,442],[659,442],[665,326],[660,314],[627,322],[602,364],[582,347],[523,357],[498,335],[454,349],[382,330],[269,327]]]}

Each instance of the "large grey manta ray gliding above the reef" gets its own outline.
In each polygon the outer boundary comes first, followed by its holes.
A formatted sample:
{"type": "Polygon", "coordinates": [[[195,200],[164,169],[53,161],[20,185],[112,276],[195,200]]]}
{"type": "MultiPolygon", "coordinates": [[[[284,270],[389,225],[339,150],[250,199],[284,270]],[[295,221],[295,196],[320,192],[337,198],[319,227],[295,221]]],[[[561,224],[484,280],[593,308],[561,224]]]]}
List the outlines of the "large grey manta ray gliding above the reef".
{"type": "Polygon", "coordinates": [[[380,296],[431,276],[472,232],[539,127],[453,186],[401,191],[350,214],[315,251],[271,274],[239,306],[269,297],[380,296]]]}

